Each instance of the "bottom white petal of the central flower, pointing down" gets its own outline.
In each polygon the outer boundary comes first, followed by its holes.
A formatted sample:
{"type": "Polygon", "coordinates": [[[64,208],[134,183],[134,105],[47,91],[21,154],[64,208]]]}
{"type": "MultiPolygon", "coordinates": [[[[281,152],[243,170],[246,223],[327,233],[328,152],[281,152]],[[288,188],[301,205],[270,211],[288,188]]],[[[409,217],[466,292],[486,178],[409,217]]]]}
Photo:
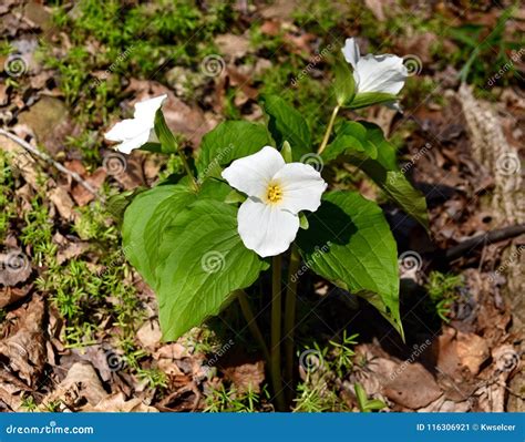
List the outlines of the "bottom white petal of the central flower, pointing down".
{"type": "Polygon", "coordinates": [[[246,248],[262,258],[286,251],[299,230],[299,216],[255,198],[241,204],[237,223],[246,248]]]}

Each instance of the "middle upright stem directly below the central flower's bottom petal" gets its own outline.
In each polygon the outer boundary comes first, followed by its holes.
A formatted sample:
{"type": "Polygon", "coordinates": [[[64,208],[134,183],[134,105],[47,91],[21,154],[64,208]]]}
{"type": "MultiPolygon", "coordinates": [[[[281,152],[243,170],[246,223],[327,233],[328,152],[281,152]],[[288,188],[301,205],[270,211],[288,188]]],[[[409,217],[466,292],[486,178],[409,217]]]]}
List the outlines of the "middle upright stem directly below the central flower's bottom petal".
{"type": "Polygon", "coordinates": [[[271,381],[276,398],[277,411],[285,411],[282,379],[280,371],[280,328],[281,328],[281,257],[274,256],[271,260],[271,381]]]}

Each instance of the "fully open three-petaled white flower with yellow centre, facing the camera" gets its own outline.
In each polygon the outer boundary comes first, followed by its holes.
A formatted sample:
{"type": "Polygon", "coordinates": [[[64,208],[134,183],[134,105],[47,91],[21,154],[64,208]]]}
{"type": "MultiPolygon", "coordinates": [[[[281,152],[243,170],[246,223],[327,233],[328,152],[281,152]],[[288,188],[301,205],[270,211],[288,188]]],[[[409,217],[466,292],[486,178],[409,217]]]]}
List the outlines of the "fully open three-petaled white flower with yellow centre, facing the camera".
{"type": "Polygon", "coordinates": [[[312,166],[286,164],[270,146],[223,171],[231,187],[248,195],[237,215],[243,243],[261,257],[286,251],[299,230],[299,212],[316,212],[327,183],[312,166]]]}

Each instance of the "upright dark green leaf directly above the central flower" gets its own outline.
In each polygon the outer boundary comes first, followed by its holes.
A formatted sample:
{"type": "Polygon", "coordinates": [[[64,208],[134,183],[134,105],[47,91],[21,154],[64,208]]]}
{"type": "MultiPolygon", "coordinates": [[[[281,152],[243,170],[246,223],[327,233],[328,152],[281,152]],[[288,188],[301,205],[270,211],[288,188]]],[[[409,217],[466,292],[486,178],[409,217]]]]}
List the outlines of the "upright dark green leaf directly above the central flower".
{"type": "Polygon", "coordinates": [[[288,141],[294,161],[312,152],[311,133],[299,111],[277,95],[264,95],[262,109],[268,114],[268,129],[278,147],[288,141]]]}

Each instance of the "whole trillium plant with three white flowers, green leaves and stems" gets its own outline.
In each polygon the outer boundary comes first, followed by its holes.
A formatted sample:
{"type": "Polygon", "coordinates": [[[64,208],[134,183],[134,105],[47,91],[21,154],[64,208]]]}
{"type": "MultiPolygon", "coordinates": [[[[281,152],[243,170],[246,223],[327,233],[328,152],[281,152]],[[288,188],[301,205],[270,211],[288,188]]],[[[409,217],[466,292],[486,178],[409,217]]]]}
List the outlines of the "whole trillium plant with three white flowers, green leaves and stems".
{"type": "Polygon", "coordinates": [[[296,296],[308,289],[306,270],[370,302],[403,336],[389,224],[373,201],[333,191],[330,171],[353,165],[428,224],[424,197],[399,168],[381,129],[339,116],[343,109],[395,105],[408,76],[402,59],[361,56],[353,39],[341,52],[333,61],[334,107],[318,146],[312,131],[320,129],[276,95],[260,100],[266,124],[223,122],[203,137],[195,158],[166,125],[166,95],[137,103],[134,117],[105,135],[123,153],[178,155],[184,165],[184,175],[128,197],[122,224],[126,257],[157,296],[164,340],[238,301],[267,358],[278,410],[287,408],[282,379],[290,386],[296,372],[296,296]],[[270,306],[268,332],[253,308],[267,281],[271,290],[258,304],[270,306]]]}

